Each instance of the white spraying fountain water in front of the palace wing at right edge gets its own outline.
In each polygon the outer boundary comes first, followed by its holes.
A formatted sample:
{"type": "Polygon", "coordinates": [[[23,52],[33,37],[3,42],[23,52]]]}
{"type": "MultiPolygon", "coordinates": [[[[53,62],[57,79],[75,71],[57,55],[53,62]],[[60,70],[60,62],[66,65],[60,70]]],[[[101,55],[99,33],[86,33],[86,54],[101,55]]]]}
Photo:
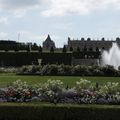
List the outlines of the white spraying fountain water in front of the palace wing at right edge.
{"type": "Polygon", "coordinates": [[[120,48],[117,43],[113,43],[109,51],[103,51],[102,65],[112,65],[115,69],[118,69],[120,66],[120,48]]]}

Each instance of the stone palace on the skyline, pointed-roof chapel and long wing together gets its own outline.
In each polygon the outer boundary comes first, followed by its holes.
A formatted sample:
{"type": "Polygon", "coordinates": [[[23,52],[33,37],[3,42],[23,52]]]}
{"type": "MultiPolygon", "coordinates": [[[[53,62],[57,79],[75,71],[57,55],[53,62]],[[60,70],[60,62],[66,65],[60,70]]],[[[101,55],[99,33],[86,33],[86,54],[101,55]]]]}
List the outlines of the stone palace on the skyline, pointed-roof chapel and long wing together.
{"type": "MultiPolygon", "coordinates": [[[[68,51],[72,48],[72,51],[102,51],[109,50],[112,47],[112,43],[117,42],[118,46],[120,46],[120,38],[116,38],[116,40],[105,40],[102,38],[100,40],[95,40],[91,38],[81,38],[80,40],[74,40],[68,37],[68,44],[66,45],[68,51]]],[[[51,47],[55,48],[55,43],[51,40],[50,35],[43,42],[43,49],[50,49],[51,47]]],[[[56,50],[59,48],[56,48],[56,50]]],[[[70,50],[71,51],[71,50],[70,50]]]]}

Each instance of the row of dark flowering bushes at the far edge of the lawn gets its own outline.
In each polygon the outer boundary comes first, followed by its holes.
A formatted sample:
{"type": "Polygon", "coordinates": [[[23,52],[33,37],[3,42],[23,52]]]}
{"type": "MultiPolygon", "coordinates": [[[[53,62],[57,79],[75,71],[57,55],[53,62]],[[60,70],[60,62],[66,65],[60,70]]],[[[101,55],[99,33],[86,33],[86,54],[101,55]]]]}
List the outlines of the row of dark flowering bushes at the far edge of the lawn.
{"type": "Polygon", "coordinates": [[[39,75],[69,75],[69,76],[120,76],[120,70],[113,66],[83,66],[83,65],[44,65],[23,66],[19,74],[39,75]]]}

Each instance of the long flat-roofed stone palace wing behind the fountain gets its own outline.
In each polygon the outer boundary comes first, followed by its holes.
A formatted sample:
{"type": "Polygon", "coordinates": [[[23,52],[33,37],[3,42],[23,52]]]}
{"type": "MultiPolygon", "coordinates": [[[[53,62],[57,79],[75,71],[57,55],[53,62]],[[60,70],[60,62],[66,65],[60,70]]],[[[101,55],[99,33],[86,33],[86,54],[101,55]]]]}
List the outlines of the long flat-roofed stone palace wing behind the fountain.
{"type": "Polygon", "coordinates": [[[81,38],[81,40],[71,40],[68,38],[68,45],[67,48],[70,50],[72,47],[73,51],[76,51],[78,48],[80,51],[102,51],[102,50],[109,50],[112,46],[113,42],[117,42],[120,46],[120,38],[116,38],[116,40],[105,40],[102,38],[101,40],[91,40],[87,38],[81,38]]]}

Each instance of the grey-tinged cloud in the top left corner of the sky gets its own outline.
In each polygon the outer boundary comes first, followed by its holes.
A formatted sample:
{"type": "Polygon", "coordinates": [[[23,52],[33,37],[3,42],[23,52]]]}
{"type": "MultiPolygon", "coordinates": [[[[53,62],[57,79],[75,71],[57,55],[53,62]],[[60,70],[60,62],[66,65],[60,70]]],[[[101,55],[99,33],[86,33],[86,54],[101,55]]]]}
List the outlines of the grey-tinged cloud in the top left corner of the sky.
{"type": "Polygon", "coordinates": [[[41,0],[0,0],[0,11],[23,17],[28,10],[40,6],[41,0]]]}

